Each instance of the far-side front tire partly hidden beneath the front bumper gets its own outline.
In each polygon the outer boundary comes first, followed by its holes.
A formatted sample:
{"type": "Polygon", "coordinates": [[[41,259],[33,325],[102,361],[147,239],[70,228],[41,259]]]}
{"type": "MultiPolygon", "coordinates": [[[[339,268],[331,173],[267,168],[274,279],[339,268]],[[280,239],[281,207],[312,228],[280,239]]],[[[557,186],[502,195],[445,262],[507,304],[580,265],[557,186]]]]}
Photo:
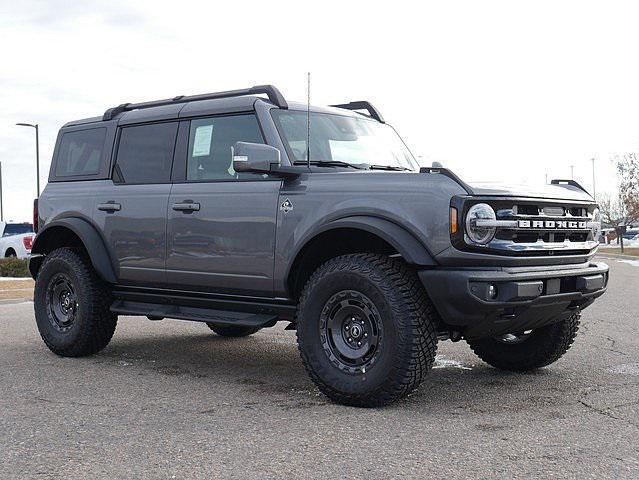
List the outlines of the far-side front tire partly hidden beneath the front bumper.
{"type": "Polygon", "coordinates": [[[484,362],[501,370],[526,372],[559,360],[572,345],[579,330],[580,314],[533,330],[521,343],[504,343],[497,338],[466,342],[484,362]]]}

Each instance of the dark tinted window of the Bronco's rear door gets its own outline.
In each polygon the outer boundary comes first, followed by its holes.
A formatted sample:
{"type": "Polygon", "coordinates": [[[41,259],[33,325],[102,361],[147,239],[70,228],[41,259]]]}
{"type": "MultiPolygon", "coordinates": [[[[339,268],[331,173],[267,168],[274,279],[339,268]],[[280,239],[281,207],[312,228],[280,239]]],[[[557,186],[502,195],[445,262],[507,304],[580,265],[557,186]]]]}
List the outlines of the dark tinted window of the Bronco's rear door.
{"type": "Polygon", "coordinates": [[[177,128],[177,122],[123,128],[114,179],[119,183],[169,183],[177,128]]]}

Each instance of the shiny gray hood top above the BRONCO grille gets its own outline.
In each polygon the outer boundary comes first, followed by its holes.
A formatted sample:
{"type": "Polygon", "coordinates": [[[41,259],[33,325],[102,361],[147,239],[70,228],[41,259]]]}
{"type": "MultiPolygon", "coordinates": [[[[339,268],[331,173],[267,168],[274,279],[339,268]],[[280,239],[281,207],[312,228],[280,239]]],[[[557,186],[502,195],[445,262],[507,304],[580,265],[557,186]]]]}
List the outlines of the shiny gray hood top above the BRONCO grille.
{"type": "Polygon", "coordinates": [[[517,185],[496,182],[472,182],[468,184],[475,195],[497,197],[530,197],[556,200],[593,202],[593,198],[579,187],[561,185],[517,185]]]}

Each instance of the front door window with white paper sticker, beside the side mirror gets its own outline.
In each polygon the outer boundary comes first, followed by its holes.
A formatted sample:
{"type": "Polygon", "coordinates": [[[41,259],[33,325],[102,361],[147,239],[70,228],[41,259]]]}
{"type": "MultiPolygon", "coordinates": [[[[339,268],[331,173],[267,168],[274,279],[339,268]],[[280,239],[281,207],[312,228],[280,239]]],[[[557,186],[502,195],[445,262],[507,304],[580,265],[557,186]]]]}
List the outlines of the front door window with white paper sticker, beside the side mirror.
{"type": "Polygon", "coordinates": [[[235,142],[264,143],[255,115],[203,118],[191,121],[186,165],[187,181],[235,180],[251,173],[233,169],[235,142]]]}

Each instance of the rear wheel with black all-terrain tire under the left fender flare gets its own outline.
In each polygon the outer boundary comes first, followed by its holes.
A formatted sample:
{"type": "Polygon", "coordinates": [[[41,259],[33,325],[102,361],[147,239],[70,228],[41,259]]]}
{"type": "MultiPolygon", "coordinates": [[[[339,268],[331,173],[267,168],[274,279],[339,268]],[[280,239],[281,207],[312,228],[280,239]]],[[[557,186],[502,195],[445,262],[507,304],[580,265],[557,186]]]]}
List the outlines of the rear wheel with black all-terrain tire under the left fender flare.
{"type": "Polygon", "coordinates": [[[53,353],[83,357],[106,347],[118,321],[110,306],[110,286],[82,252],[59,248],[45,257],[36,278],[34,309],[40,336],[53,353]],[[61,322],[61,317],[68,320],[61,322]]]}

